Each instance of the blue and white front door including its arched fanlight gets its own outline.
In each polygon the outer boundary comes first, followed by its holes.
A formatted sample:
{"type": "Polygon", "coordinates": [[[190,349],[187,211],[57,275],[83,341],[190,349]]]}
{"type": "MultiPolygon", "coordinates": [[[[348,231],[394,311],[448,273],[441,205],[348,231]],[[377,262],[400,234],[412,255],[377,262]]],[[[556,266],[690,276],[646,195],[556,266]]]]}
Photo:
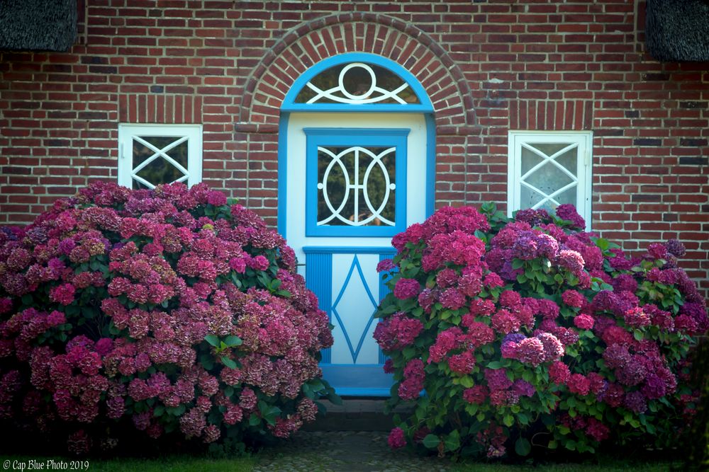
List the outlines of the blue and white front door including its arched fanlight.
{"type": "Polygon", "coordinates": [[[340,395],[389,396],[372,317],[392,236],[432,213],[433,108],[400,65],[341,54],[301,75],[281,106],[279,230],[333,324],[323,376],[340,395]]]}

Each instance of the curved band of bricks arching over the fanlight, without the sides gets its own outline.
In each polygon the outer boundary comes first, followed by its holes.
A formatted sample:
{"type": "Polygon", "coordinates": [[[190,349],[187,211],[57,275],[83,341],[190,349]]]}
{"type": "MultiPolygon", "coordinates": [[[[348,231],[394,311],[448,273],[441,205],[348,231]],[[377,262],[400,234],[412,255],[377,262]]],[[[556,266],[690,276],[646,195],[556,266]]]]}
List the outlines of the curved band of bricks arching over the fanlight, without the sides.
{"type": "Polygon", "coordinates": [[[355,51],[379,54],[411,71],[433,103],[439,135],[466,134],[475,126],[462,70],[428,34],[391,16],[340,13],[298,25],[264,55],[245,84],[238,129],[274,132],[298,76],[322,59],[355,51]]]}

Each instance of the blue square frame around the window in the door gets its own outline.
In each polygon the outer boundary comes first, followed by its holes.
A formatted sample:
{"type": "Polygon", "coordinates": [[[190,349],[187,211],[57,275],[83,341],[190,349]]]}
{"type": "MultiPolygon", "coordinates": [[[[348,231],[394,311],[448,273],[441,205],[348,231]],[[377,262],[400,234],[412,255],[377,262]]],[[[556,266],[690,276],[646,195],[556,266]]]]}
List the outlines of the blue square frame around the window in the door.
{"type": "MultiPolygon", "coordinates": [[[[303,128],[306,134],[306,236],[394,236],[406,229],[407,137],[402,128],[303,128]],[[318,146],[377,146],[396,148],[396,189],[393,226],[318,225],[318,146]]],[[[359,184],[359,180],[354,183],[359,184]]],[[[354,197],[359,198],[359,190],[354,197]]]]}

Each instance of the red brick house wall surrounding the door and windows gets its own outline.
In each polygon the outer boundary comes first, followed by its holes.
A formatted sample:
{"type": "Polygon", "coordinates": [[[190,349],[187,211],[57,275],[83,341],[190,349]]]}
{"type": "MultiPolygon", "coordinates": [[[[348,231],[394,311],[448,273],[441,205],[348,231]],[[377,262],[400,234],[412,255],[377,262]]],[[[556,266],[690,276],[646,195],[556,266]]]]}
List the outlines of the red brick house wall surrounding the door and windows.
{"type": "Polygon", "coordinates": [[[274,223],[279,106],[340,52],[436,110],[437,205],[504,206],[509,129],[593,129],[593,226],[679,237],[709,289],[709,64],[644,52],[644,1],[82,1],[70,52],[0,53],[0,224],[115,179],[118,122],[201,122],[203,180],[274,223]]]}

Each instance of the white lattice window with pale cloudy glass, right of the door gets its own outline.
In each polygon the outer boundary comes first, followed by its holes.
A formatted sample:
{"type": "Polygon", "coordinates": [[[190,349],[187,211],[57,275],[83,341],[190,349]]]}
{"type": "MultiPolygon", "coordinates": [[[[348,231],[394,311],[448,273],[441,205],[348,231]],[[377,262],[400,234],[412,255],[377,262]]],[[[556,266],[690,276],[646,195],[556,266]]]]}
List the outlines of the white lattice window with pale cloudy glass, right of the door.
{"type": "Polygon", "coordinates": [[[593,132],[510,131],[508,216],[518,209],[571,203],[591,229],[593,132]]]}

